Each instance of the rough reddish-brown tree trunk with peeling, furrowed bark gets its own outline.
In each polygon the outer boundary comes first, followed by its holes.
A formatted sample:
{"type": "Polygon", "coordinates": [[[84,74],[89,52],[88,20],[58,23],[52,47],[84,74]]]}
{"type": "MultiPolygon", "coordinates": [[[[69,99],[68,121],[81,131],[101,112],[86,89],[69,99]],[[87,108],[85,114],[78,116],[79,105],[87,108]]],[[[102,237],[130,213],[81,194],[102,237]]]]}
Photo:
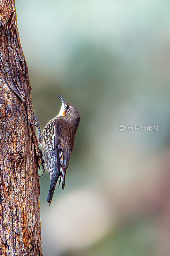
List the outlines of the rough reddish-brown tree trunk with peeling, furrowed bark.
{"type": "Polygon", "coordinates": [[[14,0],[0,4],[0,256],[42,255],[40,156],[14,0]]]}

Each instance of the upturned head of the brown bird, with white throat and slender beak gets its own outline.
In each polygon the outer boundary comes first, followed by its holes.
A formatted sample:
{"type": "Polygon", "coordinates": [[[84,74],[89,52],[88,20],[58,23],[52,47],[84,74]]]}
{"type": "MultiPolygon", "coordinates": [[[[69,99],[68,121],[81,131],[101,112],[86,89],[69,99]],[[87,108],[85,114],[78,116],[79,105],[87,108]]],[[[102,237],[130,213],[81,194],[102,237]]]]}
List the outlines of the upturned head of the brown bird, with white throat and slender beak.
{"type": "Polygon", "coordinates": [[[67,103],[60,95],[58,95],[58,97],[62,101],[62,106],[60,108],[58,116],[65,116],[80,122],[80,115],[77,109],[72,104],[67,103]]]}

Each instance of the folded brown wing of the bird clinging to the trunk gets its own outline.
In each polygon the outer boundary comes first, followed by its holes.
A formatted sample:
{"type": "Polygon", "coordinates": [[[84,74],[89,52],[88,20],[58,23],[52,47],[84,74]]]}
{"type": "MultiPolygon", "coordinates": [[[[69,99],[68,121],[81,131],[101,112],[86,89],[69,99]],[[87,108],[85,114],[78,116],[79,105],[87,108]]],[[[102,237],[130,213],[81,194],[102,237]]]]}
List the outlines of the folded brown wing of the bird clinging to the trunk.
{"type": "Polygon", "coordinates": [[[63,189],[74,137],[68,124],[64,120],[58,119],[54,126],[53,147],[56,153],[57,168],[60,170],[60,180],[62,181],[63,189]]]}

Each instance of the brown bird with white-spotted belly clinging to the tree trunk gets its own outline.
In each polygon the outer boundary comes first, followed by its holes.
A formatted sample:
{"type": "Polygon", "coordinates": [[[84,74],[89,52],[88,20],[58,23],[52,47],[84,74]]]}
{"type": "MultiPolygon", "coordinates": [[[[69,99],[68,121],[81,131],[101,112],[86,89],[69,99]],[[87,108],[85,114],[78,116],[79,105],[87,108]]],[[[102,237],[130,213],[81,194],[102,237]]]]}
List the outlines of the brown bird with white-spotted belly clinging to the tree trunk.
{"type": "Polygon", "coordinates": [[[80,115],[77,109],[72,104],[67,103],[60,95],[58,97],[62,101],[59,114],[46,124],[42,135],[38,123],[28,122],[38,127],[39,130],[38,141],[42,148],[40,155],[43,156],[43,162],[45,162],[51,181],[47,197],[49,205],[59,177],[58,187],[61,182],[62,189],[65,187],[66,170],[73,150],[75,134],[80,123],[80,115]]]}

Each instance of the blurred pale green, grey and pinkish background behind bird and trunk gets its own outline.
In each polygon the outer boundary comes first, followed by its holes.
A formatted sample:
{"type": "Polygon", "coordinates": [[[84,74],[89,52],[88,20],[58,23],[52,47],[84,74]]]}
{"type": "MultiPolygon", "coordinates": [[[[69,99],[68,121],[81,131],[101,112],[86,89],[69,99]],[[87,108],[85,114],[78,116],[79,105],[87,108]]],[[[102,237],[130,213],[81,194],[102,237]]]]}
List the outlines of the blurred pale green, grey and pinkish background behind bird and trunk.
{"type": "Polygon", "coordinates": [[[41,130],[58,94],[81,116],[50,207],[39,179],[43,255],[170,255],[169,1],[15,2],[41,130]]]}

